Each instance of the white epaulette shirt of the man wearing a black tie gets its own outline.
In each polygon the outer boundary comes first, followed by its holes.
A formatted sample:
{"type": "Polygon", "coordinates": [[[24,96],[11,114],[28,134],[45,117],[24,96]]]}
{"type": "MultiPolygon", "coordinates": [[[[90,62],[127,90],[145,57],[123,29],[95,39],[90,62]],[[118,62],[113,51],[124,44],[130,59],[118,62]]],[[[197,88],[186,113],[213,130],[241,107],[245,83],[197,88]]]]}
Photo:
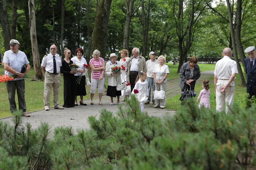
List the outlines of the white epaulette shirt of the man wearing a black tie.
{"type": "MultiPolygon", "coordinates": [[[[57,73],[59,73],[62,63],[61,63],[61,57],[59,54],[55,54],[55,61],[56,61],[56,68],[57,73]]],[[[43,57],[41,66],[45,67],[45,70],[49,73],[53,73],[53,54],[48,54],[47,56],[43,57]]]]}

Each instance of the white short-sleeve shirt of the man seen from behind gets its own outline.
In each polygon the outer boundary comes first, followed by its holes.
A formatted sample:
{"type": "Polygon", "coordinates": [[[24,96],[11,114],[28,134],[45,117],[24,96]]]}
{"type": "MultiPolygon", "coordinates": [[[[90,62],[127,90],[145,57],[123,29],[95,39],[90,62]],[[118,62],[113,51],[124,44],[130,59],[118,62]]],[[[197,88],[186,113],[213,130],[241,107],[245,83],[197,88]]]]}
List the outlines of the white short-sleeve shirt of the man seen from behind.
{"type": "Polygon", "coordinates": [[[218,79],[229,80],[233,73],[238,73],[236,61],[229,58],[229,56],[224,56],[221,60],[217,61],[214,75],[217,76],[218,79]]]}

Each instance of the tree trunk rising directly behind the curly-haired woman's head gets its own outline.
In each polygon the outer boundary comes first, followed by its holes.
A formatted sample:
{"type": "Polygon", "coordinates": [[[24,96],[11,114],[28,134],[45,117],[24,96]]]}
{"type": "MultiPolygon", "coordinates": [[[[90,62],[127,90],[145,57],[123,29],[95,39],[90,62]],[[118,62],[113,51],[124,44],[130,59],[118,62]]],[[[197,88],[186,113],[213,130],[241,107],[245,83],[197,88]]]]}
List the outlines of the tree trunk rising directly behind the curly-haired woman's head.
{"type": "Polygon", "coordinates": [[[123,41],[123,48],[129,49],[129,29],[131,25],[131,20],[133,16],[133,5],[134,0],[126,0],[126,19],[125,19],[125,31],[124,31],[124,41],[123,41]]]}

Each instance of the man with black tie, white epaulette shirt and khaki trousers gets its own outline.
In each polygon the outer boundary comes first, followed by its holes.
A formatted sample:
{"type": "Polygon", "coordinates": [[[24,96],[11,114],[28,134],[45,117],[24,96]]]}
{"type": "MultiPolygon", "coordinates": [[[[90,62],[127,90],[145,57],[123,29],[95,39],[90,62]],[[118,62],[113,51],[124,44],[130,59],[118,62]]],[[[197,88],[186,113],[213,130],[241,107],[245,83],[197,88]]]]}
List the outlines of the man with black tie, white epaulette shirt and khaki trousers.
{"type": "Polygon", "coordinates": [[[44,110],[50,108],[50,93],[53,88],[53,104],[54,109],[64,109],[59,106],[59,87],[61,85],[61,74],[60,68],[61,57],[57,52],[57,46],[51,45],[50,54],[43,57],[41,68],[44,74],[44,91],[43,91],[43,102],[44,110]]]}

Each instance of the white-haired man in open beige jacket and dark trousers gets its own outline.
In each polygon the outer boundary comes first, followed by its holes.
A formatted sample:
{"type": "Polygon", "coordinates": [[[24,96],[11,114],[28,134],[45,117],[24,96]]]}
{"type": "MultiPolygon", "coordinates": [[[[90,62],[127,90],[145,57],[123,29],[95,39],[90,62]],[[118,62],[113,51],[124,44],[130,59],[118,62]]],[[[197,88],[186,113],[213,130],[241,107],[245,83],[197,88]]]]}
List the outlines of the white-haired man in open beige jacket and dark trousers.
{"type": "Polygon", "coordinates": [[[135,80],[141,71],[147,72],[146,60],[140,55],[139,48],[132,49],[132,57],[129,58],[127,64],[127,82],[131,83],[131,92],[135,86],[135,80]]]}

